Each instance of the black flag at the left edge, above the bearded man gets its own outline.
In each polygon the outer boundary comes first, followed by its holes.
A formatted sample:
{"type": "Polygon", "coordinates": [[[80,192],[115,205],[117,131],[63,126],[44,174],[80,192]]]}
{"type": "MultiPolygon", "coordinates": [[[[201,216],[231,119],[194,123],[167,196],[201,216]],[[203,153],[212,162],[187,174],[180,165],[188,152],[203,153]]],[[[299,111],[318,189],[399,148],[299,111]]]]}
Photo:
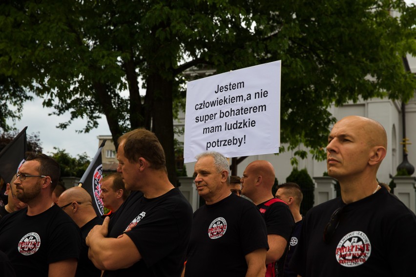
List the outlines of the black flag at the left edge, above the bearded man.
{"type": "Polygon", "coordinates": [[[27,151],[26,129],[27,126],[0,152],[0,176],[5,184],[12,180],[24,161],[27,151]]]}

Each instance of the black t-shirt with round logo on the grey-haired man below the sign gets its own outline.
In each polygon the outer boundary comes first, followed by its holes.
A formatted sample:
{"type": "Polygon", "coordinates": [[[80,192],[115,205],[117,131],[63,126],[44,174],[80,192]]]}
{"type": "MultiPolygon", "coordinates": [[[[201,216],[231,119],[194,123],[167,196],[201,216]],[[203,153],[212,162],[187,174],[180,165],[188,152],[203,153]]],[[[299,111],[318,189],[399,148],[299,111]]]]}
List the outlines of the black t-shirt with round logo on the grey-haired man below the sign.
{"type": "Polygon", "coordinates": [[[195,211],[185,276],[246,276],[245,256],[262,248],[269,245],[260,211],[249,200],[231,194],[195,211]]]}

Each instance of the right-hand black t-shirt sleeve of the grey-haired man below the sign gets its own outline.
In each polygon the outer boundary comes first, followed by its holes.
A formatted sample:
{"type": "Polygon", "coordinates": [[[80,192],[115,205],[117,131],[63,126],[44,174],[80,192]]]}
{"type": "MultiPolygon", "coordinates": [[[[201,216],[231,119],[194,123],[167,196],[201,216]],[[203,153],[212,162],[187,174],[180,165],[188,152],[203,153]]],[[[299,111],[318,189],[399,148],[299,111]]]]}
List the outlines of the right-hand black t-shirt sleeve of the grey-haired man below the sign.
{"type": "Polygon", "coordinates": [[[241,214],[240,224],[240,241],[244,255],[257,249],[265,248],[269,250],[266,223],[256,206],[248,207],[241,214]]]}

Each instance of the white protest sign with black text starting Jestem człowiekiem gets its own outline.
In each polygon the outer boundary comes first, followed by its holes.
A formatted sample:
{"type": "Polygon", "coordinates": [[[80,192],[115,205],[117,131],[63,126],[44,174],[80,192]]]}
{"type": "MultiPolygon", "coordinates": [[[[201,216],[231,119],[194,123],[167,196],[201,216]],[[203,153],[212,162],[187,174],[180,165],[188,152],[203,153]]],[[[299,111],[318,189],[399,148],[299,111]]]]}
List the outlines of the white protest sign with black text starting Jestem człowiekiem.
{"type": "Polygon", "coordinates": [[[206,151],[241,157],[278,153],[281,61],[187,83],[185,162],[206,151]]]}

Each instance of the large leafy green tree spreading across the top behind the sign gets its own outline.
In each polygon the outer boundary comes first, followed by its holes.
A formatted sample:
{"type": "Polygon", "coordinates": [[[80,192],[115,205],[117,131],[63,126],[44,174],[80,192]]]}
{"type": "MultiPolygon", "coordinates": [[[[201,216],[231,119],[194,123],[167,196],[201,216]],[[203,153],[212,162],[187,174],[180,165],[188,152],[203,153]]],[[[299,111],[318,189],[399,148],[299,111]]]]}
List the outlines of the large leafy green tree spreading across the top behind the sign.
{"type": "Polygon", "coordinates": [[[88,132],[104,115],[113,141],[152,130],[175,183],[172,103],[183,103],[184,71],[281,59],[281,142],[323,158],[331,103],[413,95],[401,58],[416,55],[415,18],[402,0],[7,0],[0,76],[42,96],[56,115],[71,111],[61,128],[86,118],[80,131],[88,132]]]}

